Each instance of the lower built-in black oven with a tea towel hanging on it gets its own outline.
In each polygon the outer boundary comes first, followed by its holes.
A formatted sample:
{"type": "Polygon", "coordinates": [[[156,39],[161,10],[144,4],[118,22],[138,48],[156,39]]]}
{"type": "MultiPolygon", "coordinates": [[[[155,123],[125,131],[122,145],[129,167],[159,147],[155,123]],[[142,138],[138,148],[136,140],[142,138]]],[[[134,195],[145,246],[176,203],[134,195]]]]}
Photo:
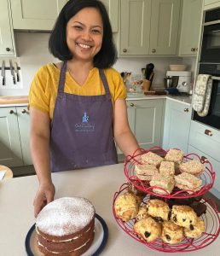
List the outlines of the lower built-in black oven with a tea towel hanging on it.
{"type": "Polygon", "coordinates": [[[200,63],[199,73],[210,74],[212,82],[211,101],[209,112],[205,117],[200,117],[196,111],[193,112],[193,119],[205,125],[220,130],[220,55],[217,63],[200,63]]]}

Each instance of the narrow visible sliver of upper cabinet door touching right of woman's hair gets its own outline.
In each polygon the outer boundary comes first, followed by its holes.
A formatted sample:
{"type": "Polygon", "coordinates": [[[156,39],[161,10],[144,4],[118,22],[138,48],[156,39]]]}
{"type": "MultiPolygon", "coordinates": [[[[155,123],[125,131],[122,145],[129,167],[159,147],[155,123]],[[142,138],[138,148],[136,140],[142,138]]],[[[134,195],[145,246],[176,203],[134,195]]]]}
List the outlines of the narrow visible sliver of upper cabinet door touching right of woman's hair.
{"type": "Polygon", "coordinates": [[[113,32],[119,31],[119,0],[101,0],[107,8],[113,32]]]}

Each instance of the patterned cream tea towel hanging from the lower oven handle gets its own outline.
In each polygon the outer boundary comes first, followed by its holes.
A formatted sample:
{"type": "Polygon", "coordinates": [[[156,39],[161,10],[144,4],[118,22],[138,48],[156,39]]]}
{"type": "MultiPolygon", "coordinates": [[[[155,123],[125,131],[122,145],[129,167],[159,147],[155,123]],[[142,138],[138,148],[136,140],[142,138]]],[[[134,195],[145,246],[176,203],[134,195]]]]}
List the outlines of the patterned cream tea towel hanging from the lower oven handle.
{"type": "Polygon", "coordinates": [[[205,107],[206,90],[211,75],[199,74],[194,87],[193,108],[194,111],[202,112],[205,107]]]}

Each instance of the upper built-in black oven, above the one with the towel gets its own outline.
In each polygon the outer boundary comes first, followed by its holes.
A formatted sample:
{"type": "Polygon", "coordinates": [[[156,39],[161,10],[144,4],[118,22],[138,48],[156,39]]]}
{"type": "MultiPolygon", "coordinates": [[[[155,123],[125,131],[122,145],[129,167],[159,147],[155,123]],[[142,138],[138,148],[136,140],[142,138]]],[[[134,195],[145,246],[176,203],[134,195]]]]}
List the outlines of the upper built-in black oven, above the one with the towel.
{"type": "Polygon", "coordinates": [[[220,8],[206,11],[202,28],[200,62],[220,63],[220,8]]]}

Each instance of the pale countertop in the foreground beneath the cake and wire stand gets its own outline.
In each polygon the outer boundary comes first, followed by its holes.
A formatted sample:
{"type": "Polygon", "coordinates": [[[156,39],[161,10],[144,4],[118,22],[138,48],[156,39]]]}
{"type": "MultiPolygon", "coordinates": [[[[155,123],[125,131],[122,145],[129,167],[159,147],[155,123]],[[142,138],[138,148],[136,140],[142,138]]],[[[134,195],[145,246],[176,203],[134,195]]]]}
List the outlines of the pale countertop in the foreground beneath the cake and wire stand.
{"type": "MultiPolygon", "coordinates": [[[[101,255],[162,255],[124,233],[113,218],[113,195],[126,182],[124,164],[56,172],[52,174],[52,179],[56,188],[55,198],[63,196],[88,198],[95,206],[97,214],[106,221],[109,237],[101,255]]],[[[11,178],[0,183],[1,255],[26,255],[26,234],[35,223],[32,202],[37,189],[38,178],[35,175],[11,178]]],[[[200,256],[217,256],[219,244],[220,236],[199,252],[194,251],[187,255],[196,256],[199,253],[200,256]]],[[[175,255],[182,256],[182,253],[175,253],[175,255]]]]}

